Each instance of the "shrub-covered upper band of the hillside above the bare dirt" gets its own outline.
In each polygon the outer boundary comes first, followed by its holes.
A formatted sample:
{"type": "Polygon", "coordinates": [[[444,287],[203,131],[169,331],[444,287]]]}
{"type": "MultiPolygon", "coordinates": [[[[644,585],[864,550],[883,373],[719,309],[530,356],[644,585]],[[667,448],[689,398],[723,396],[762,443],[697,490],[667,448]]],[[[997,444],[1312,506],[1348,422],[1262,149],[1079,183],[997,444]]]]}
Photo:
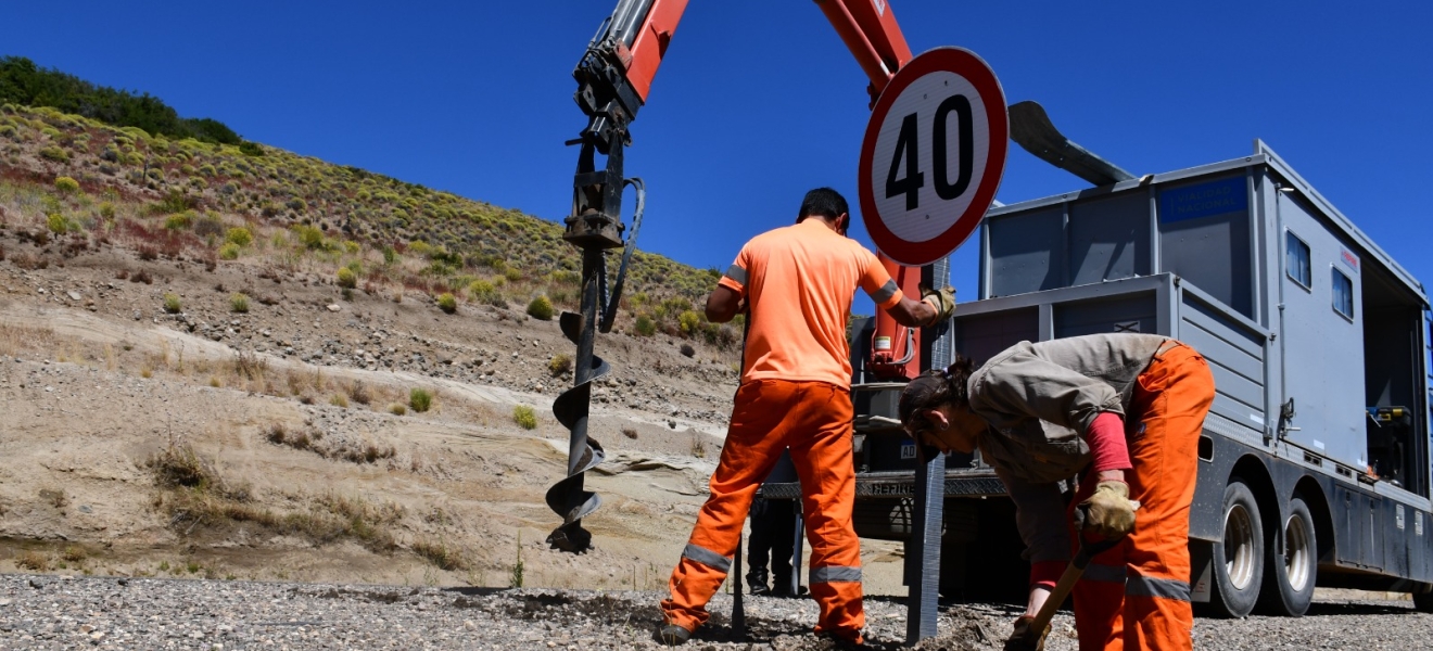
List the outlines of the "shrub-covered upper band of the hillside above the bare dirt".
{"type": "MultiPolygon", "coordinates": [[[[261,256],[285,270],[332,269],[335,282],[347,266],[353,288],[370,295],[451,292],[494,305],[546,295],[559,309],[576,309],[579,299],[580,256],[560,225],[357,167],[14,104],[0,107],[0,192],[47,192],[17,202],[3,223],[43,226],[72,242],[118,242],[199,263],[261,256]],[[56,186],[60,177],[77,187],[56,186]],[[225,246],[234,227],[251,238],[225,246]]],[[[692,310],[715,285],[712,270],[638,252],[628,279],[628,325],[641,319],[648,335],[735,342],[737,331],[692,310]]]]}

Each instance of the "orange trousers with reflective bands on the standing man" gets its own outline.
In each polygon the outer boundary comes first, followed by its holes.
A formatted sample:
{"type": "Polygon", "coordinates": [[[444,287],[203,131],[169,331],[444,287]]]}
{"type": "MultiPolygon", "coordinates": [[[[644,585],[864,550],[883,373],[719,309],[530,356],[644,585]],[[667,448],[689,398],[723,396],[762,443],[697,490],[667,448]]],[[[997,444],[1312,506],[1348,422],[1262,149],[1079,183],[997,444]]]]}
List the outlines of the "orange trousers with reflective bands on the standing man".
{"type": "Polygon", "coordinates": [[[662,601],[669,624],[695,631],[731,571],[747,511],[761,481],[791,448],[811,544],[811,597],[821,607],[815,632],[860,641],[861,548],[851,525],[856,466],[851,459],[850,391],[825,382],[752,381],[741,385],[727,429],[711,496],[672,571],[662,601]]]}

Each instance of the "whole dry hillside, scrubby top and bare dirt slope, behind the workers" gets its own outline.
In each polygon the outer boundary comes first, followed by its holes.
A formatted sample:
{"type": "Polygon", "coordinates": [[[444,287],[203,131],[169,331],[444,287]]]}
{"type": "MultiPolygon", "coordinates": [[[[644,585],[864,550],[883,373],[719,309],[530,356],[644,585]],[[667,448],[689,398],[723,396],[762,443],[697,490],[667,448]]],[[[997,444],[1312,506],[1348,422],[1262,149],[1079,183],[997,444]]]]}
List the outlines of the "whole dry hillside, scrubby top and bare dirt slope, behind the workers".
{"type": "MultiPolygon", "coordinates": [[[[596,549],[550,551],[575,351],[529,303],[573,306],[560,227],[259,152],[0,107],[0,571],[663,585],[737,386],[712,276],[638,255],[596,549]]],[[[898,558],[867,545],[868,589],[898,558]]]]}

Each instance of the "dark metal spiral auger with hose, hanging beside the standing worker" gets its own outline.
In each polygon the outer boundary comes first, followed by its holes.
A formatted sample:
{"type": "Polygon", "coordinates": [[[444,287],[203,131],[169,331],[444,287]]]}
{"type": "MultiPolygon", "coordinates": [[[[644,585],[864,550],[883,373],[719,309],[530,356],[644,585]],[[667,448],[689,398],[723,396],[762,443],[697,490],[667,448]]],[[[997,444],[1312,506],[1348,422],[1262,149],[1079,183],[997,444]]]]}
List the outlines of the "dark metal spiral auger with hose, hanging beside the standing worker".
{"type": "MultiPolygon", "coordinates": [[[[547,544],[555,549],[580,554],[592,548],[592,534],[582,528],[582,518],[588,517],[602,505],[598,494],[583,486],[585,474],[596,468],[606,459],[602,444],[588,436],[588,415],[592,406],[592,382],[602,379],[612,366],[593,353],[596,332],[612,332],[612,320],[616,318],[618,305],[622,300],[622,285],[626,280],[628,263],[632,252],[636,250],[636,232],[642,225],[642,210],[646,203],[646,190],[642,179],[625,179],[622,185],[636,189],[636,210],[632,217],[632,232],[626,240],[618,240],[623,248],[622,262],[610,289],[608,288],[608,249],[613,238],[622,230],[620,222],[615,227],[608,226],[609,236],[599,238],[588,232],[588,236],[573,236],[575,230],[582,230],[582,220],[595,215],[592,220],[605,219],[602,213],[586,213],[569,217],[566,239],[582,249],[582,312],[563,312],[559,325],[562,333],[577,345],[577,359],[575,363],[576,378],[570,389],[562,392],[553,401],[552,412],[557,422],[570,431],[567,441],[567,476],[547,489],[547,506],[562,517],[562,525],[547,535],[547,544]],[[573,222],[579,222],[573,227],[573,222]]],[[[618,189],[620,197],[620,187],[618,189]]],[[[590,229],[590,226],[589,226],[590,229]]]]}

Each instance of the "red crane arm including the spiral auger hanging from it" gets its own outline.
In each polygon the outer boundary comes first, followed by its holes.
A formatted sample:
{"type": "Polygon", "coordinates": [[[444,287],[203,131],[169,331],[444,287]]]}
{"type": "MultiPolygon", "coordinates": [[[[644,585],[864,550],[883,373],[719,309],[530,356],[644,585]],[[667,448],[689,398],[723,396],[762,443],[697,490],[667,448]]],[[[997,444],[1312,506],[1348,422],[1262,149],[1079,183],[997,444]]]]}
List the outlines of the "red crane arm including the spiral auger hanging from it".
{"type": "MultiPolygon", "coordinates": [[[[593,355],[596,331],[612,328],[612,315],[619,305],[622,279],[631,260],[636,240],[636,226],[641,223],[643,189],[641,179],[626,179],[622,169],[623,147],[631,145],[629,127],[636,113],[646,103],[666,49],[676,33],[676,24],[686,10],[688,0],[618,0],[598,33],[588,43],[586,52],[572,72],[577,80],[575,96],[577,106],[588,116],[588,126],[569,145],[580,145],[577,170],[572,183],[572,213],[565,219],[563,239],[582,250],[582,306],[580,313],[565,312],[560,319],[563,333],[577,345],[576,378],[570,389],[553,402],[553,413],[570,431],[567,451],[567,476],[547,491],[547,505],[563,518],[553,529],[547,542],[557,549],[582,552],[590,548],[592,534],[582,528],[582,518],[599,505],[599,496],[583,486],[583,475],[603,459],[602,445],[588,436],[588,413],[590,406],[590,383],[609,372],[609,366],[593,355]],[[598,156],[606,162],[598,166],[598,156]],[[632,233],[623,238],[622,190],[636,187],[636,213],[632,219],[632,233]],[[622,266],[610,292],[606,280],[606,252],[625,248],[622,266]]],[[[890,82],[890,77],[910,62],[910,47],[896,24],[896,16],[887,0],[815,0],[835,27],[841,40],[850,47],[857,63],[871,79],[870,93],[876,97],[890,82]]],[[[886,263],[897,283],[907,293],[916,293],[920,272],[886,263]]],[[[919,371],[914,359],[917,333],[901,336],[888,315],[880,315],[877,331],[891,331],[888,339],[904,342],[874,359],[878,373],[906,375],[907,369],[919,371]],[[904,352],[904,358],[900,358],[904,352]],[[897,359],[900,358],[900,359],[897,359]]]]}

